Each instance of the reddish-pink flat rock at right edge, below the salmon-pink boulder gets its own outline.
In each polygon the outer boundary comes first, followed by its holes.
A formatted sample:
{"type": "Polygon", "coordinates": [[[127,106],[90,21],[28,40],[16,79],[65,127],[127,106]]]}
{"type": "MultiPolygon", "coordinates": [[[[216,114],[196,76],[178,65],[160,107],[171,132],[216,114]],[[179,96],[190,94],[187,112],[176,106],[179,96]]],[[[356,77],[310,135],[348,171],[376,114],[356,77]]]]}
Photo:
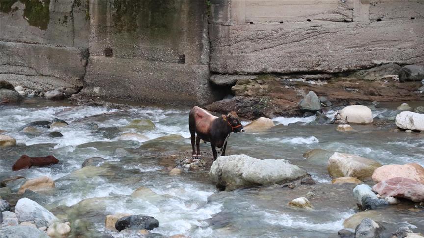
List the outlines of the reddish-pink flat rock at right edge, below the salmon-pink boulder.
{"type": "Polygon", "coordinates": [[[414,202],[424,201],[424,185],[415,180],[395,177],[381,181],[372,187],[381,197],[407,198],[414,202]]]}

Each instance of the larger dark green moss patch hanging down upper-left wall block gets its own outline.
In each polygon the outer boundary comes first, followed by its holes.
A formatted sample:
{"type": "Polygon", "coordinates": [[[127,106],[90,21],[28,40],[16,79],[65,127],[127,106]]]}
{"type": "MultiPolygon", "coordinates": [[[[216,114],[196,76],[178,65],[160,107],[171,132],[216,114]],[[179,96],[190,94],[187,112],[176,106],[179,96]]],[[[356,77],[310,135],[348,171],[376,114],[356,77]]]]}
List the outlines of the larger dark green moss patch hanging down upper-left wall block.
{"type": "Polygon", "coordinates": [[[19,0],[25,5],[24,18],[29,25],[42,30],[47,29],[50,21],[50,0],[19,0]]]}

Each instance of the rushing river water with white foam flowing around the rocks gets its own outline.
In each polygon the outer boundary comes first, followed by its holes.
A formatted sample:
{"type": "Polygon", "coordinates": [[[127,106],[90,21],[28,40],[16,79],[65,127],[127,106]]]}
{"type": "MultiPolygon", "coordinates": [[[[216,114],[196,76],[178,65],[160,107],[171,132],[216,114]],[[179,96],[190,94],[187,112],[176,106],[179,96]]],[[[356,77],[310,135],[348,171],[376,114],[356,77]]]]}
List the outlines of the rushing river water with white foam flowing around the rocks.
{"type": "MultiPolygon", "coordinates": [[[[377,116],[396,107],[387,104],[370,108],[377,116]]],[[[344,228],[344,220],[358,210],[352,194],[355,185],[331,185],[326,164],[333,152],[364,156],[383,165],[415,162],[424,166],[424,134],[394,132],[394,123],[353,125],[355,132],[343,133],[335,130],[336,125],[311,124],[315,116],[278,117],[273,119],[276,126],[265,132],[232,135],[227,154],[287,159],[305,168],[317,184],[299,185],[295,189],[274,185],[219,192],[206,172],[170,175],[169,169],[160,165],[163,154],[185,151],[187,156],[191,154],[188,112],[189,108],[119,110],[71,106],[39,98],[27,99],[18,106],[1,106],[1,129],[18,143],[1,150],[1,180],[11,176],[51,177],[55,189],[47,193],[27,191],[21,197],[37,201],[58,218],[87,221],[89,237],[137,237],[135,233],[123,234],[105,228],[106,215],[116,212],[158,219],[159,228],[152,231],[151,237],[177,234],[190,237],[336,237],[337,231],[344,228]],[[63,137],[31,137],[18,132],[19,127],[29,122],[54,118],[63,119],[69,125],[46,130],[59,131],[63,137]],[[149,119],[156,127],[152,130],[126,127],[135,119],[149,119]],[[143,134],[147,138],[116,139],[126,132],[143,134]],[[308,159],[302,156],[317,148],[325,151],[308,159]],[[12,171],[13,163],[24,154],[31,157],[53,155],[60,163],[12,171]],[[83,161],[90,157],[102,157],[106,162],[97,167],[81,168],[83,161]],[[140,187],[145,188],[143,192],[134,195],[140,187]],[[287,205],[309,191],[315,193],[310,198],[313,210],[300,211],[287,205]]],[[[201,151],[203,154],[210,152],[210,145],[202,144],[201,151]]],[[[15,194],[18,188],[2,188],[1,196],[19,198],[15,194]]],[[[387,233],[405,225],[414,232],[424,233],[423,208],[413,203],[393,205],[377,213],[379,221],[386,224],[387,233]]]]}

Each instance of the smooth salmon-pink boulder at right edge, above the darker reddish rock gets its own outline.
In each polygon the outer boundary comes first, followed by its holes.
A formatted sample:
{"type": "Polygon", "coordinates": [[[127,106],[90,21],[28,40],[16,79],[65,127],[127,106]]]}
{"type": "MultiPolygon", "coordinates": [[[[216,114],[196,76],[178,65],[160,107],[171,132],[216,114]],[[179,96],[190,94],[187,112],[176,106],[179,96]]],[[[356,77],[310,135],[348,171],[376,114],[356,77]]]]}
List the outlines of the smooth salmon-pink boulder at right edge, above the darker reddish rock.
{"type": "Polygon", "coordinates": [[[424,168],[416,163],[390,164],[376,168],[372,174],[372,180],[376,183],[395,177],[408,178],[424,184],[424,168]]]}

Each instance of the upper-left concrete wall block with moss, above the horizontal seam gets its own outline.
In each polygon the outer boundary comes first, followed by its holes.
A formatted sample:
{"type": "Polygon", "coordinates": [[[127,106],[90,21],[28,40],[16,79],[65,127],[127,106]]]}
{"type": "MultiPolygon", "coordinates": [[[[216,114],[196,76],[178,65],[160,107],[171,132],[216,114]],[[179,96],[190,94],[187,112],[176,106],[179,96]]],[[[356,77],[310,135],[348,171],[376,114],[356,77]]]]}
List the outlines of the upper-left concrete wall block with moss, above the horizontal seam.
{"type": "Polygon", "coordinates": [[[43,0],[35,4],[4,1],[0,11],[0,39],[87,48],[90,32],[87,10],[86,0],[43,0]]]}

